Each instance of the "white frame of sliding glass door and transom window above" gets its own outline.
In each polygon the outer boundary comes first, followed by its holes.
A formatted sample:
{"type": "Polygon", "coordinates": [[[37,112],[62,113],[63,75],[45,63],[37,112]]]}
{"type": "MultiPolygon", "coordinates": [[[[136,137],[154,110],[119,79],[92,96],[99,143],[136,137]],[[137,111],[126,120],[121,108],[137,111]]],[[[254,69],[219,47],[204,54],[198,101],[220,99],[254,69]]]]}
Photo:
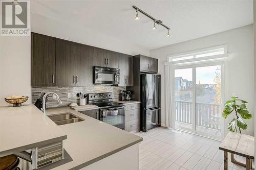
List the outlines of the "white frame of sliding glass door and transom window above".
{"type": "MultiPolygon", "coordinates": [[[[224,75],[224,67],[225,67],[225,61],[227,60],[229,54],[227,53],[227,45],[220,45],[220,46],[215,46],[215,47],[210,47],[210,48],[204,48],[201,50],[196,50],[196,51],[190,51],[190,52],[186,52],[186,53],[180,53],[180,54],[176,54],[176,55],[168,55],[167,56],[167,62],[165,63],[165,65],[167,64],[172,64],[174,65],[174,70],[175,69],[181,69],[181,68],[193,68],[193,129],[189,130],[186,129],[187,131],[190,131],[191,133],[194,134],[198,134],[201,136],[205,136],[205,137],[209,137],[209,138],[214,138],[217,140],[222,140],[224,137],[224,118],[221,119],[221,136],[220,137],[212,137],[212,136],[207,136],[207,134],[203,134],[199,131],[196,131],[196,125],[194,123],[195,121],[195,103],[196,103],[196,95],[195,95],[195,87],[196,87],[196,67],[203,67],[203,66],[211,66],[211,65],[221,65],[221,101],[222,101],[222,105],[221,105],[221,110],[224,108],[224,103],[225,103],[225,75],[224,75]],[[199,57],[199,58],[195,58],[195,55],[198,54],[202,54],[205,53],[206,51],[210,51],[210,50],[214,50],[214,49],[218,49],[218,48],[224,48],[224,54],[221,55],[213,55],[213,56],[207,56],[207,57],[199,57]],[[179,60],[179,61],[169,61],[169,58],[179,58],[179,57],[184,57],[184,56],[189,56],[189,55],[194,55],[193,59],[185,59],[185,60],[179,60]]],[[[175,85],[175,81],[172,81],[172,86],[174,87],[175,85]]],[[[174,88],[170,89],[172,90],[172,99],[175,99],[175,92],[174,92],[174,88]]],[[[175,106],[175,100],[172,101],[172,105],[175,106]]],[[[175,108],[172,108],[172,113],[174,115],[175,113],[175,108]]],[[[173,116],[173,128],[175,128],[175,118],[173,116]]],[[[183,130],[183,129],[179,129],[179,130],[183,130]]]]}

